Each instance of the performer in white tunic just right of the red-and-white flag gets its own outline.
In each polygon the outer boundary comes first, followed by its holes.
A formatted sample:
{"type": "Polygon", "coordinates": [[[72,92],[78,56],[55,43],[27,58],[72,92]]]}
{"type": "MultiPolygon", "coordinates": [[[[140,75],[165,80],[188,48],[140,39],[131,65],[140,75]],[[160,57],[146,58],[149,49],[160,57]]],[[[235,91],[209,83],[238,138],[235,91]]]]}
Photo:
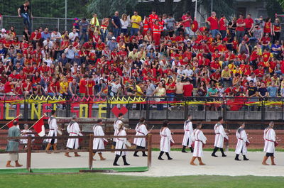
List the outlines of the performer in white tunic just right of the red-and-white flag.
{"type": "MultiPolygon", "coordinates": [[[[55,116],[56,116],[56,111],[52,110],[51,117],[48,119],[48,125],[49,125],[48,136],[58,136],[58,123],[56,122],[55,116]]],[[[53,145],[53,150],[57,150],[58,139],[50,138],[47,139],[46,141],[48,142],[48,145],[45,148],[47,153],[50,153],[49,149],[51,145],[53,145]]]]}

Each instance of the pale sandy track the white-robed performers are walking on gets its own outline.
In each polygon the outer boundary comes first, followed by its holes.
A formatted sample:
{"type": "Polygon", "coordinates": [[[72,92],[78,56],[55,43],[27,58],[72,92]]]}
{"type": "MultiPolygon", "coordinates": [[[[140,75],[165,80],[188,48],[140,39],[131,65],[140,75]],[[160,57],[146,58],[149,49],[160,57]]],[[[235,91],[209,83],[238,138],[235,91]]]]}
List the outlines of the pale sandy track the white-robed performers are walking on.
{"type": "MultiPolygon", "coordinates": [[[[219,157],[211,157],[211,153],[204,152],[203,162],[205,166],[192,166],[189,164],[192,157],[191,153],[171,152],[170,156],[173,160],[158,160],[158,152],[153,152],[152,167],[148,172],[128,172],[117,173],[119,175],[137,175],[137,176],[180,176],[180,175],[255,175],[255,176],[284,176],[284,153],[275,153],[276,166],[261,165],[264,153],[251,152],[247,155],[249,161],[235,161],[234,153],[227,152],[227,157],[220,157],[221,153],[217,153],[219,157]]],[[[72,156],[74,156],[71,153],[72,156]]],[[[72,168],[72,167],[88,167],[88,153],[80,153],[81,157],[65,157],[60,154],[32,154],[32,168],[72,168]]],[[[96,155],[97,161],[94,161],[93,167],[112,167],[114,153],[104,153],[105,161],[100,161],[96,155]]],[[[141,153],[138,153],[141,155],[141,153]]],[[[5,168],[7,154],[1,155],[0,168],[5,168]]],[[[166,159],[166,156],[163,156],[166,159]]],[[[242,159],[242,157],[240,157],[242,159]]],[[[147,157],[133,157],[132,153],[127,155],[127,160],[131,164],[129,167],[146,166],[147,157]]],[[[26,167],[26,154],[20,154],[20,163],[26,167]]],[[[118,162],[123,167],[122,158],[118,162]]],[[[196,160],[195,163],[198,164],[196,160]]],[[[268,164],[271,161],[268,160],[268,164]]],[[[13,163],[12,163],[13,165],[13,163]]]]}

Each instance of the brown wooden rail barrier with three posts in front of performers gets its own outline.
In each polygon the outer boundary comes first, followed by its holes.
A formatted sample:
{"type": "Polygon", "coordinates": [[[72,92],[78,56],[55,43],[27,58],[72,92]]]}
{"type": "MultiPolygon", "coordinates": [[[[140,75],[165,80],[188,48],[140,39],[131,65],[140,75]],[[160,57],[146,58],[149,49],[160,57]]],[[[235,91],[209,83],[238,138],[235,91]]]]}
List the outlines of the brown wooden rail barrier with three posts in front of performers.
{"type": "MultiPolygon", "coordinates": [[[[147,136],[94,136],[90,134],[89,136],[43,136],[43,137],[0,137],[0,140],[6,140],[6,139],[27,139],[28,143],[26,144],[27,149],[26,150],[18,150],[18,151],[0,151],[0,153],[27,153],[27,162],[26,162],[26,168],[29,172],[31,172],[31,153],[46,153],[45,150],[32,150],[32,140],[33,139],[68,139],[68,138],[82,138],[87,139],[89,142],[88,149],[78,149],[78,150],[56,150],[56,152],[60,153],[66,153],[66,152],[88,152],[88,162],[89,162],[89,170],[93,169],[93,152],[115,152],[115,151],[145,151],[148,152],[148,161],[147,166],[151,167],[152,163],[152,135],[148,134],[147,136]],[[148,148],[146,149],[104,149],[104,150],[93,150],[93,140],[94,138],[146,138],[148,140],[148,148]]],[[[53,150],[50,150],[51,153],[53,153],[53,150]]]]}

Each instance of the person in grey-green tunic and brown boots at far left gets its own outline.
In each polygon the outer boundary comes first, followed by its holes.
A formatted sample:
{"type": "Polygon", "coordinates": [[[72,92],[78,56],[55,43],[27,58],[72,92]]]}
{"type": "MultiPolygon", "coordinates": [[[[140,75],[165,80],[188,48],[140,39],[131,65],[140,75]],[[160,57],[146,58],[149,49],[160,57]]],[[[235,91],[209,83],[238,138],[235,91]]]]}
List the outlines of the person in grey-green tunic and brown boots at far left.
{"type": "MultiPolygon", "coordinates": [[[[9,128],[9,130],[8,130],[8,137],[21,136],[20,129],[17,127],[17,125],[18,125],[18,121],[13,121],[13,126],[11,126],[11,128],[9,128]]],[[[18,144],[19,144],[18,139],[9,139],[8,145],[6,147],[6,151],[17,152],[18,151],[18,144]]],[[[15,161],[16,167],[23,166],[23,165],[20,165],[18,163],[18,153],[9,153],[9,160],[7,161],[6,167],[13,167],[11,165],[11,161],[15,161]]]]}

